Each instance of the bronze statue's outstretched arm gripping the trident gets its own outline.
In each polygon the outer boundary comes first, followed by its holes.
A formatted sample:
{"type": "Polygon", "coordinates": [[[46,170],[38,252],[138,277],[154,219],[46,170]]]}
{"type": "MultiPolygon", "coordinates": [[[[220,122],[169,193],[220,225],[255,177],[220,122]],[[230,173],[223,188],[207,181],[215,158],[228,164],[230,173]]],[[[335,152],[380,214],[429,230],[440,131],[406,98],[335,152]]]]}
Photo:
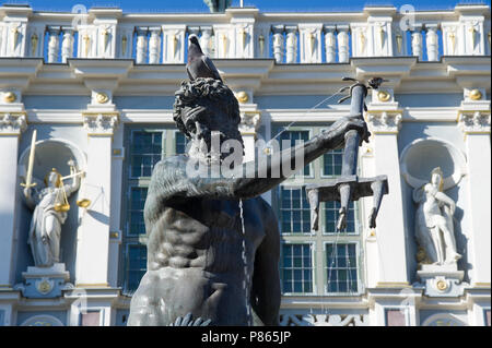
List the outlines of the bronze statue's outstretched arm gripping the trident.
{"type": "Polygon", "coordinates": [[[251,199],[270,191],[327,151],[340,148],[349,130],[359,131],[364,140],[368,137],[364,121],[343,118],[303,144],[266,156],[263,163],[243,164],[235,168],[233,177],[189,175],[186,168],[189,163],[179,161],[176,159],[178,157],[166,159],[154,167],[149,193],[159,200],[200,196],[223,200],[251,199]],[[296,161],[296,156],[303,160],[296,161]],[[298,168],[290,170],[295,165],[298,168]]]}

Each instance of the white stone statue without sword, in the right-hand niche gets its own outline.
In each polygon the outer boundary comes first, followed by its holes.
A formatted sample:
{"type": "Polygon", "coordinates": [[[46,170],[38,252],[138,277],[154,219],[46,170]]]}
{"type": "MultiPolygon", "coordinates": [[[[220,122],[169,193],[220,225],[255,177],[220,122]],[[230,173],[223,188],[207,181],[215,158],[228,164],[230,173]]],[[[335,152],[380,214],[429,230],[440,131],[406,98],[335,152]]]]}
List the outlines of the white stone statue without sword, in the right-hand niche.
{"type": "Polygon", "coordinates": [[[431,172],[431,182],[413,191],[419,204],[415,215],[415,237],[435,265],[452,265],[461,259],[456,251],[453,215],[455,202],[443,192],[443,172],[440,167],[431,172]]]}

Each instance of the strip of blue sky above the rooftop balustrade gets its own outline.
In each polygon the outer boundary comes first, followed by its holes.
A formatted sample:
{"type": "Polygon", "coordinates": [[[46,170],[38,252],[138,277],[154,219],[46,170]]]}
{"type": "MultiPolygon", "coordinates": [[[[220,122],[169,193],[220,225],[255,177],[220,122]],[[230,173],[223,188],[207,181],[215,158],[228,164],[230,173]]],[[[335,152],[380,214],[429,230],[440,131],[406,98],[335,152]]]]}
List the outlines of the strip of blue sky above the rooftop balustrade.
{"type": "MultiPolygon", "coordinates": [[[[0,3],[28,3],[34,10],[70,11],[75,4],[91,7],[118,7],[124,12],[209,12],[202,0],[0,0],[0,3]]],[[[266,12],[295,11],[360,11],[367,4],[393,4],[399,8],[411,4],[417,10],[446,10],[457,3],[485,3],[488,0],[244,0],[266,12]]],[[[233,0],[238,7],[239,0],[233,0]]]]}

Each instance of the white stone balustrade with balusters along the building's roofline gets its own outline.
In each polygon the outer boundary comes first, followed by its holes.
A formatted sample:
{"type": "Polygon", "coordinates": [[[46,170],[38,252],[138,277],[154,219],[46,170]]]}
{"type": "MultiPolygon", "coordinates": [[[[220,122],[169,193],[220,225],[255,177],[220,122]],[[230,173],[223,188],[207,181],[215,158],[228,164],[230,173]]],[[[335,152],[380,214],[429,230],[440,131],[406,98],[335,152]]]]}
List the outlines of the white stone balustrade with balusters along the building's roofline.
{"type": "Polygon", "coordinates": [[[187,38],[197,34],[212,58],[273,58],[279,64],[347,63],[352,57],[489,56],[490,7],[401,12],[368,7],[361,12],[263,13],[255,8],[225,13],[87,13],[0,8],[0,57],[134,59],[138,64],[184,63],[187,38]]]}

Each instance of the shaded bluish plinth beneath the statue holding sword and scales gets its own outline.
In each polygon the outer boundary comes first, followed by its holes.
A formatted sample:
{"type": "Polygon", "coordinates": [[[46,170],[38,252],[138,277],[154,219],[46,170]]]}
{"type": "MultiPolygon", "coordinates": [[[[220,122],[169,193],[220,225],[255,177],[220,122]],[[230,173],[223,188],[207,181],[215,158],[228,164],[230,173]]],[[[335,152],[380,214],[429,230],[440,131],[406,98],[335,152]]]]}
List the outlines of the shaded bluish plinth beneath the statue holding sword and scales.
{"type": "Polygon", "coordinates": [[[50,267],[27,267],[22,273],[23,284],[15,285],[26,298],[56,298],[61,296],[61,290],[73,288],[68,283],[70,273],[65,269],[63,263],[55,263],[50,267]]]}

